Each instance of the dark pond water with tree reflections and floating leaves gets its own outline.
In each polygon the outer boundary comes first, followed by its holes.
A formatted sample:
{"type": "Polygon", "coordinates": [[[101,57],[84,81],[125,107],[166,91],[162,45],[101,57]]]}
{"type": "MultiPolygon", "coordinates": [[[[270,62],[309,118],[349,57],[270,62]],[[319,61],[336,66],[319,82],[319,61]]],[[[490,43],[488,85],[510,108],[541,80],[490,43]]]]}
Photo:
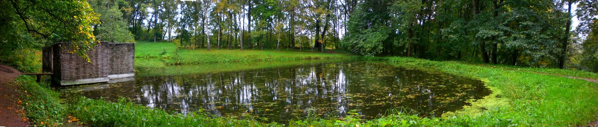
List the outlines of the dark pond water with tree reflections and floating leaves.
{"type": "Polygon", "coordinates": [[[377,61],[185,75],[136,73],[135,79],[126,82],[63,88],[61,92],[65,100],[126,97],[174,113],[202,109],[218,116],[252,114],[279,123],[308,115],[343,117],[350,111],[374,119],[390,109],[440,116],[490,94],[480,80],[377,61]]]}

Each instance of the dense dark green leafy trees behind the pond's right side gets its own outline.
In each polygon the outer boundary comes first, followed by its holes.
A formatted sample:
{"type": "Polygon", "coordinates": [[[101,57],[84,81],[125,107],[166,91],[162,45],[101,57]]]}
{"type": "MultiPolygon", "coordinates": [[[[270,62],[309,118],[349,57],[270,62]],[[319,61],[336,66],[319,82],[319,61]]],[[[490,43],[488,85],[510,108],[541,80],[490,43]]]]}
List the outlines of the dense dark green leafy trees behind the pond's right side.
{"type": "MultiPolygon", "coordinates": [[[[582,8],[578,10],[586,13],[580,19],[595,20],[591,15],[595,7],[587,2],[579,2],[582,8]]],[[[563,37],[570,36],[564,30],[572,17],[563,3],[568,4],[551,0],[362,1],[350,12],[343,42],[361,55],[557,67],[561,56],[570,57],[564,51],[570,42],[563,37]]]]}

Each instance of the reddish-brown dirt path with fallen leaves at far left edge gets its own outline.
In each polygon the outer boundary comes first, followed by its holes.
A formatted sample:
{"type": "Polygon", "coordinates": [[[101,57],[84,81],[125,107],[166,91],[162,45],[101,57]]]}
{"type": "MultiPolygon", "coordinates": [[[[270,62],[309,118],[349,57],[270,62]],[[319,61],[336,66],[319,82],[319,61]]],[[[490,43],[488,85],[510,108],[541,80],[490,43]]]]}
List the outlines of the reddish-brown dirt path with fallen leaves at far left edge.
{"type": "Polygon", "coordinates": [[[19,93],[13,86],[7,86],[21,75],[19,70],[0,64],[0,126],[28,126],[27,119],[19,116],[19,93]]]}

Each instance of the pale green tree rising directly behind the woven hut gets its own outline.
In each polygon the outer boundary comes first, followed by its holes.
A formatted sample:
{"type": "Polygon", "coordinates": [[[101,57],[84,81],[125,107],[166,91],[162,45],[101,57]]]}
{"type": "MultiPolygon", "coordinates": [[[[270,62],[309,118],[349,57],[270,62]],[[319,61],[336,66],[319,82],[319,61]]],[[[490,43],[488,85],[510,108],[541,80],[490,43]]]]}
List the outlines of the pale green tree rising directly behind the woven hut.
{"type": "Polygon", "coordinates": [[[135,42],[133,34],[127,29],[118,3],[126,4],[124,0],[91,0],[91,8],[100,14],[101,24],[96,24],[94,35],[100,41],[108,42],[135,42]]]}

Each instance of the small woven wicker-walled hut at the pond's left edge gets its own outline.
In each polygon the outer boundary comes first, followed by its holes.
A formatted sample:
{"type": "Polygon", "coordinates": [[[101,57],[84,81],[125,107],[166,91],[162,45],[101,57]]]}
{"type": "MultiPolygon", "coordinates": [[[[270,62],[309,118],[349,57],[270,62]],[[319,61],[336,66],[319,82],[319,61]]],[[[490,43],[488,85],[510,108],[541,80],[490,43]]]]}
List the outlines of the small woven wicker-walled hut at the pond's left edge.
{"type": "Polygon", "coordinates": [[[135,44],[102,42],[87,55],[91,63],[77,54],[71,54],[69,43],[45,47],[42,58],[44,72],[52,72],[55,85],[78,85],[108,82],[111,79],[129,78],[135,74],[135,44]]]}

